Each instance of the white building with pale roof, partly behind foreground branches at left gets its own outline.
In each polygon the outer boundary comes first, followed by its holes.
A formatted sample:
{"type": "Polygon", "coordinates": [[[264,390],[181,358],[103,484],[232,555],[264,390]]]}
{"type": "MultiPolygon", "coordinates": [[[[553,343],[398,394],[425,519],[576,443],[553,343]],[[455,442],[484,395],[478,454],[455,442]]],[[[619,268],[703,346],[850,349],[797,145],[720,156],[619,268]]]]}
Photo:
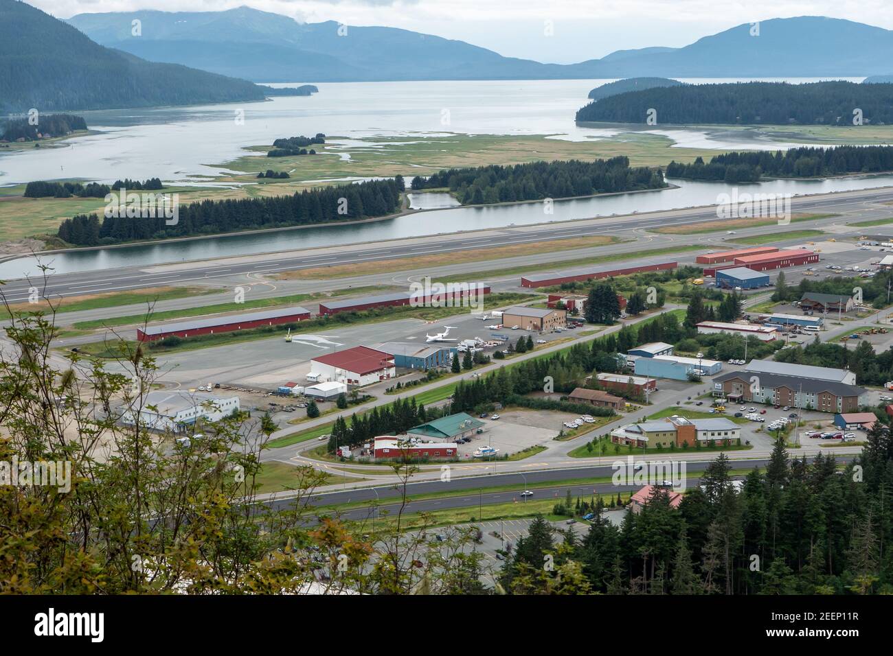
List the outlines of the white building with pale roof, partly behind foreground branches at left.
{"type": "Polygon", "coordinates": [[[153,430],[181,433],[198,419],[220,421],[238,411],[238,396],[195,394],[186,390],[156,390],[135,399],[121,412],[121,422],[153,430]],[[137,405],[140,403],[140,405],[137,405]]]}

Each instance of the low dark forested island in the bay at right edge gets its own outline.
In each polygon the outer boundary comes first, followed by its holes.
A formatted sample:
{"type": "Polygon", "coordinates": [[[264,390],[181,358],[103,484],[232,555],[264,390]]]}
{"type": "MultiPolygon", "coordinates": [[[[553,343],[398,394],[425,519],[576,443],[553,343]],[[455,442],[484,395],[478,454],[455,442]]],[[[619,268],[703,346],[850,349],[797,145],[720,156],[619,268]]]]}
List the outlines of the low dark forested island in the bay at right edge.
{"type": "Polygon", "coordinates": [[[590,103],[578,121],[666,125],[865,125],[893,122],[893,84],[739,82],[630,91],[590,103]]]}

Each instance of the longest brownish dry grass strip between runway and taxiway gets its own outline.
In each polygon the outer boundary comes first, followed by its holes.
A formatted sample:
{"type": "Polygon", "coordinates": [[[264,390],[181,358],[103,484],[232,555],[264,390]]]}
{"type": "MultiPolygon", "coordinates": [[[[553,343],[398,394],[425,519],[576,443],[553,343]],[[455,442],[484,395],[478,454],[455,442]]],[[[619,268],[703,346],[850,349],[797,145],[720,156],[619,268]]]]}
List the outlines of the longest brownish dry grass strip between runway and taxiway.
{"type": "Polygon", "coordinates": [[[538,253],[557,253],[576,248],[616,244],[621,241],[622,240],[619,237],[574,237],[573,239],[556,239],[555,241],[545,241],[538,244],[497,246],[496,248],[478,248],[470,251],[455,251],[451,253],[429,253],[423,256],[405,257],[396,260],[337,264],[330,267],[284,271],[276,274],[275,278],[280,280],[328,280],[330,278],[364,276],[372,273],[392,273],[403,269],[445,266],[447,264],[460,264],[463,262],[488,262],[503,257],[518,257],[520,255],[538,253]]]}

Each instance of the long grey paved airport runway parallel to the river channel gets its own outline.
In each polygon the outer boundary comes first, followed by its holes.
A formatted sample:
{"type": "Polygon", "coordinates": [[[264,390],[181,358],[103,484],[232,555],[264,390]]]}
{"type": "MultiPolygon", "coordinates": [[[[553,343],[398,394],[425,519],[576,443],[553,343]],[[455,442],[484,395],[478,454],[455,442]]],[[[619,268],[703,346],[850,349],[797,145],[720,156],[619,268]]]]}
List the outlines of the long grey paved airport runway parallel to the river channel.
{"type": "MultiPolygon", "coordinates": [[[[791,199],[792,212],[822,210],[852,212],[864,203],[893,202],[893,188],[868,189],[826,195],[797,196],[791,199]]],[[[540,226],[489,228],[481,232],[419,237],[371,245],[345,245],[308,249],[305,252],[271,253],[230,257],[215,261],[177,262],[51,275],[46,280],[17,279],[2,287],[10,303],[27,301],[31,286],[37,286],[48,298],[91,295],[175,284],[207,284],[214,279],[233,278],[245,274],[265,275],[280,271],[309,269],[337,264],[394,260],[427,253],[448,253],[503,245],[538,243],[555,239],[604,235],[619,230],[666,227],[685,223],[716,220],[713,207],[690,211],[630,214],[622,217],[584,219],[540,226]]],[[[780,233],[780,235],[783,233],[780,233]]],[[[46,256],[47,261],[52,255],[46,256]]]]}

